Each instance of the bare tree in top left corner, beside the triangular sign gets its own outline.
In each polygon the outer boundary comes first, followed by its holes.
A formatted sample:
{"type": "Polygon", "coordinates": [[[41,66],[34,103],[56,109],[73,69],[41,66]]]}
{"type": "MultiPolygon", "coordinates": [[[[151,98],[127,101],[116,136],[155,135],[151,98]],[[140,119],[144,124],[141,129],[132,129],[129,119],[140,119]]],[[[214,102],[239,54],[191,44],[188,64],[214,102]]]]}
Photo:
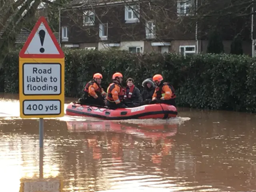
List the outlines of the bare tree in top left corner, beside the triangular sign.
{"type": "Polygon", "coordinates": [[[66,0],[0,0],[0,69],[22,27],[31,22],[40,6],[62,6],[66,0]]]}

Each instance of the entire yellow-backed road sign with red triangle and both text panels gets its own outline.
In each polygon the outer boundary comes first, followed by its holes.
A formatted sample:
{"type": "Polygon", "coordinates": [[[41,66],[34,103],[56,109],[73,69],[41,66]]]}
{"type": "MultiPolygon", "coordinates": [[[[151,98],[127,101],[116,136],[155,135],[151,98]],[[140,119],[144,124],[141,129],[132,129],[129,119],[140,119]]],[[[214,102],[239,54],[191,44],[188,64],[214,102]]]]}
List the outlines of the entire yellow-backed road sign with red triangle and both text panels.
{"type": "Polygon", "coordinates": [[[19,56],[20,117],[64,116],[64,53],[44,17],[19,56]]]}

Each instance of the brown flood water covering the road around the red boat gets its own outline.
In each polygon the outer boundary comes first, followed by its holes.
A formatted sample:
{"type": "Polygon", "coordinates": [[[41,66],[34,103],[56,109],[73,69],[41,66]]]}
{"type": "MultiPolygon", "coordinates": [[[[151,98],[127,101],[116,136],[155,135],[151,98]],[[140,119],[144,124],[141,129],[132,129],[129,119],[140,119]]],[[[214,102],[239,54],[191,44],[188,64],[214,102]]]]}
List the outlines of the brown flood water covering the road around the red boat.
{"type": "MultiPolygon", "coordinates": [[[[39,176],[38,120],[20,119],[16,99],[0,96],[1,192],[39,176]]],[[[44,178],[63,176],[65,192],[256,191],[254,114],[178,108],[178,116],[44,119],[44,178]]]]}

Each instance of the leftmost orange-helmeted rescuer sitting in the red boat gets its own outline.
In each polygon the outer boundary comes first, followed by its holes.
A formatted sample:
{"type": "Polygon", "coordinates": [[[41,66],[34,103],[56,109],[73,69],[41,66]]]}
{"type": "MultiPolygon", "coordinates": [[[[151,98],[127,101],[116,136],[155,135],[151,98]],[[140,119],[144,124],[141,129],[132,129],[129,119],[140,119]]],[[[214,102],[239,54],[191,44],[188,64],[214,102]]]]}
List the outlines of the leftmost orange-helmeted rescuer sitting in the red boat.
{"type": "Polygon", "coordinates": [[[93,75],[93,80],[88,82],[84,87],[84,96],[78,101],[80,104],[92,104],[105,106],[106,92],[101,87],[102,74],[96,73],[93,75]]]}

